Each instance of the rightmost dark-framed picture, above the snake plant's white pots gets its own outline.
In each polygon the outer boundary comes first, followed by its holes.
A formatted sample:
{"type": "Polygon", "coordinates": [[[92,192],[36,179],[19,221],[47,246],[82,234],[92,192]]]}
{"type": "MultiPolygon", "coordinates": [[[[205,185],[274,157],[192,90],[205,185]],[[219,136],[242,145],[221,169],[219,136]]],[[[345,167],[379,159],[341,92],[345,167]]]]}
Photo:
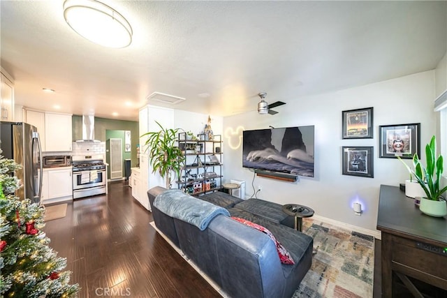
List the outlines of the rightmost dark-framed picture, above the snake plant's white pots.
{"type": "Polygon", "coordinates": [[[379,157],[420,157],[420,123],[379,126],[379,157]]]}

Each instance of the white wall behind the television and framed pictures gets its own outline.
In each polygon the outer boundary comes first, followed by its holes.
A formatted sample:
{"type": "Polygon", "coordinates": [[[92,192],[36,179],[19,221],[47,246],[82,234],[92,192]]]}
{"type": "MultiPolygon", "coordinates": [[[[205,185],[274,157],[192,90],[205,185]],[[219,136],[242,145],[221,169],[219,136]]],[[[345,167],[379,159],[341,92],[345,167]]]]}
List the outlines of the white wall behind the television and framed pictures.
{"type": "Polygon", "coordinates": [[[250,196],[254,174],[242,168],[242,130],[314,125],[316,177],[300,177],[297,183],[256,177],[254,186],[262,186],[258,198],[304,204],[318,216],[376,232],[380,185],[398,186],[408,177],[397,159],[377,157],[379,125],[420,122],[423,151],[436,131],[433,98],[434,70],[430,70],[328,94],[278,98],[287,105],[277,107],[279,114],[274,116],[257,114],[254,103],[253,112],[223,118],[223,175],[247,181],[246,195],[250,196]],[[342,111],[362,107],[374,107],[374,139],[342,140],[342,111]],[[342,146],[374,146],[373,179],[342,175],[342,146]],[[356,200],[362,203],[362,216],[352,210],[356,200]]]}

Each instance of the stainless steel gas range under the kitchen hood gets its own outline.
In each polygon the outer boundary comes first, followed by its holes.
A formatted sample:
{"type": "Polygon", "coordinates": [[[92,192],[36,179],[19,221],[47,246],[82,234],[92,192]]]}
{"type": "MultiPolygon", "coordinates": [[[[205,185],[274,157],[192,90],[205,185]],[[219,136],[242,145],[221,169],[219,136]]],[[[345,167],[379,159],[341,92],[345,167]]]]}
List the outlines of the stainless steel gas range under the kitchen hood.
{"type": "Polygon", "coordinates": [[[107,173],[102,155],[73,156],[73,199],[107,192],[107,173]]]}

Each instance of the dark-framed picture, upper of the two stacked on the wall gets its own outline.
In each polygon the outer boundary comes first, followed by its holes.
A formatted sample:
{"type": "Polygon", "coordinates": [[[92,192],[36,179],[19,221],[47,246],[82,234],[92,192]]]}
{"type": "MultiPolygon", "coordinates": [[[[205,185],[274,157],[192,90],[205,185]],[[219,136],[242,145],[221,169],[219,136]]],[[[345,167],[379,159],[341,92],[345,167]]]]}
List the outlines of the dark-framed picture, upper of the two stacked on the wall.
{"type": "Polygon", "coordinates": [[[343,139],[372,139],[373,107],[342,111],[343,139]]]}

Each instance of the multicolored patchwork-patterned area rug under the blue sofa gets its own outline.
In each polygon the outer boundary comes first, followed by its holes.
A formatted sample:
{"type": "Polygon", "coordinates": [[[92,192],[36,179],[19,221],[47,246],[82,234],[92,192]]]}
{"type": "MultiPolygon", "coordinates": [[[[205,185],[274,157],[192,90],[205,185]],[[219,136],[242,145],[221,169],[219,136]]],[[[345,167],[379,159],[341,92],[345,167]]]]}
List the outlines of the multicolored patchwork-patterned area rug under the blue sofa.
{"type": "MultiPolygon", "coordinates": [[[[193,264],[163,233],[175,250],[183,256],[219,293],[226,297],[210,278],[193,264]]],[[[312,267],[303,278],[293,298],[309,297],[372,297],[374,278],[374,237],[344,230],[312,218],[303,221],[303,232],[314,238],[312,267]]]]}

